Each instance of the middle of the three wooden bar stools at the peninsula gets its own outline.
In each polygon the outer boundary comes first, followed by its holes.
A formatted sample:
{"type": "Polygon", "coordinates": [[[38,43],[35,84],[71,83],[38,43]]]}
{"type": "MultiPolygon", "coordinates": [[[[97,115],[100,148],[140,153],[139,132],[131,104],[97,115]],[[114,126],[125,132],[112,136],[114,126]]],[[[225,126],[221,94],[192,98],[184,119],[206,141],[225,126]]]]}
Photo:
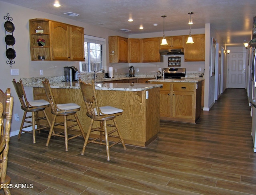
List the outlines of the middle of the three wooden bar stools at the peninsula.
{"type": "Polygon", "coordinates": [[[52,90],[51,90],[50,83],[49,83],[48,79],[45,79],[45,81],[42,81],[42,83],[44,85],[44,90],[45,90],[46,96],[47,96],[47,98],[50,102],[50,106],[52,108],[52,114],[54,114],[54,118],[52,120],[52,124],[51,124],[51,128],[50,128],[50,132],[48,135],[46,146],[48,146],[51,136],[64,137],[65,138],[65,147],[66,147],[66,152],[67,152],[68,151],[68,140],[71,140],[71,139],[76,138],[81,135],[85,139],[84,130],[83,130],[82,125],[81,125],[81,123],[78,119],[78,116],[76,114],[76,112],[78,112],[80,110],[80,106],[77,104],[74,104],[74,103],[56,104],[56,101],[52,94],[52,90]],[[71,118],[67,118],[67,116],[71,116],[71,115],[74,115],[75,120],[71,119],[71,118]],[[62,116],[64,118],[64,121],[56,122],[57,116],[62,116]],[[70,124],[68,126],[67,121],[73,122],[73,124],[70,124]],[[80,130],[72,128],[77,125],[80,130]],[[54,126],[64,126],[64,131],[54,133],[53,132],[54,126]],[[77,132],[80,131],[81,133],[68,138],[68,130],[77,131],[77,132]],[[63,133],[64,133],[64,135],[63,135],[63,133]]]}

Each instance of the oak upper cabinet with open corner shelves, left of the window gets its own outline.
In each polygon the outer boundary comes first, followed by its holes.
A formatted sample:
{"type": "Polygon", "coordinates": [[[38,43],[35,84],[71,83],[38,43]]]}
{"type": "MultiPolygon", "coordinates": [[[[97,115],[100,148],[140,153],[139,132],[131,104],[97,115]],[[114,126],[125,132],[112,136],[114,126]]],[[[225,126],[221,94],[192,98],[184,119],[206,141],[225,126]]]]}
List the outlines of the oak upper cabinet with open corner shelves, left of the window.
{"type": "Polygon", "coordinates": [[[84,28],[47,19],[29,20],[31,60],[38,55],[45,60],[84,61],[84,28]],[[36,33],[36,29],[44,32],[36,33]],[[45,40],[44,46],[38,46],[36,40],[45,40]]]}

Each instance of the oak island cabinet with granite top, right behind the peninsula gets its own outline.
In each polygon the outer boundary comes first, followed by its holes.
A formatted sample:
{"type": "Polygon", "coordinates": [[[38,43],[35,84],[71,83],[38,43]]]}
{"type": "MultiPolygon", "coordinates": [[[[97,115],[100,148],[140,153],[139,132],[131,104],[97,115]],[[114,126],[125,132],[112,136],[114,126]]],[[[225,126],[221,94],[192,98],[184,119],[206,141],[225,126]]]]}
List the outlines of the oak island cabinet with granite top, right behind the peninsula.
{"type": "Polygon", "coordinates": [[[202,81],[150,82],[160,88],[160,120],[196,123],[201,112],[202,81]]]}

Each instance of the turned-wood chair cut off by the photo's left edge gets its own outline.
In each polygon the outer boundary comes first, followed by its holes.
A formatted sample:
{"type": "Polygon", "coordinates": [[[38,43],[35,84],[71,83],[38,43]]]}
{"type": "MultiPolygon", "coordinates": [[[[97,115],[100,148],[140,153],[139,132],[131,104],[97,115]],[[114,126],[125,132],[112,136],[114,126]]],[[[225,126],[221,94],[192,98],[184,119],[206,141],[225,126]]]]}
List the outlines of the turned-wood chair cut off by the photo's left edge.
{"type": "Polygon", "coordinates": [[[11,178],[6,175],[7,171],[7,162],[8,162],[8,151],[9,151],[9,141],[10,141],[10,129],[11,129],[11,120],[12,120],[12,106],[13,106],[13,97],[11,97],[10,88],[6,89],[4,93],[0,90],[0,104],[2,104],[2,118],[0,119],[1,123],[1,154],[0,154],[0,185],[4,187],[4,194],[10,195],[10,189],[8,185],[11,182],[11,178]],[[4,119],[5,118],[5,124],[4,119]],[[4,140],[2,139],[4,138],[4,140]],[[3,143],[5,142],[5,144],[3,143]],[[5,146],[4,146],[4,145],[5,146]],[[4,149],[3,149],[4,148],[4,149]],[[2,150],[3,149],[3,150],[2,150]]]}

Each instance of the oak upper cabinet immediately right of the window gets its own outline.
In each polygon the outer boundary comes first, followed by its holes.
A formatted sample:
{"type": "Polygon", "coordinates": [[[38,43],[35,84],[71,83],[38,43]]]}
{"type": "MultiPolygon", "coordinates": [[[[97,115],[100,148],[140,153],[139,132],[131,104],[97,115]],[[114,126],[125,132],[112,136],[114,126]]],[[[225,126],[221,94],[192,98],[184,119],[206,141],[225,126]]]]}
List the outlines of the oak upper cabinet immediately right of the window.
{"type": "Polygon", "coordinates": [[[108,37],[109,62],[128,62],[128,39],[119,36],[108,37]]]}

